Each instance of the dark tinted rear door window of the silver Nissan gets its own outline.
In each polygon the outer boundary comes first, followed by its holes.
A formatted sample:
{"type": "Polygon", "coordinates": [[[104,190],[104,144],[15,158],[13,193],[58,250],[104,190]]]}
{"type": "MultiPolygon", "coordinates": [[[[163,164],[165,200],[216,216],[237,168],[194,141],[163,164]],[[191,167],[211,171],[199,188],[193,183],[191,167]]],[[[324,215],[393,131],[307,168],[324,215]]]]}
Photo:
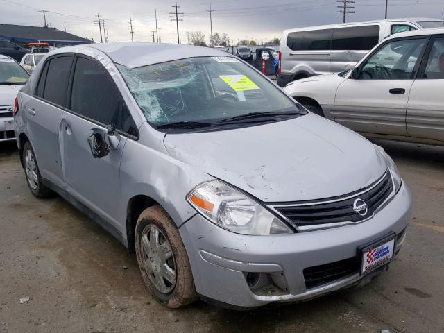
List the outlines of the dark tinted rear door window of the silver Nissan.
{"type": "Polygon", "coordinates": [[[50,60],[43,93],[43,98],[46,101],[65,106],[71,60],[72,56],[63,56],[50,60]]]}

